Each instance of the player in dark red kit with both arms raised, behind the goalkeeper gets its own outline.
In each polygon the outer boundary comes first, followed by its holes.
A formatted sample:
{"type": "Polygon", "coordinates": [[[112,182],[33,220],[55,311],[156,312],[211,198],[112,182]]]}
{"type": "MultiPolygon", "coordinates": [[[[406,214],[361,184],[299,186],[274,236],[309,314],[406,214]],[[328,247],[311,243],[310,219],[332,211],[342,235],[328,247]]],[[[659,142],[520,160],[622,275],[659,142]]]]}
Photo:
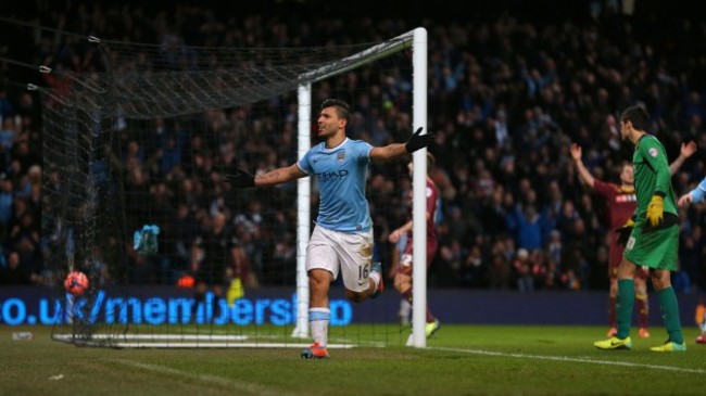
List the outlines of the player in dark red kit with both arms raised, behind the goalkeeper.
{"type": "MultiPolygon", "coordinates": [[[[620,184],[609,183],[593,178],[591,173],[585,168],[581,161],[581,148],[573,143],[571,144],[571,157],[576,164],[577,170],[581,180],[592,188],[595,192],[605,199],[606,207],[608,210],[608,222],[612,230],[617,230],[628,222],[628,219],[635,210],[636,195],[634,188],[633,167],[630,163],[622,164],[620,169],[620,184]]],[[[669,171],[673,175],[677,169],[696,151],[696,143],[683,143],[679,157],[669,165],[669,171]]],[[[612,337],[616,334],[616,302],[618,297],[618,265],[622,259],[622,251],[625,246],[618,243],[619,234],[617,232],[610,233],[610,244],[608,246],[608,278],[610,280],[610,292],[608,303],[608,323],[610,329],[607,336],[612,337]]],[[[648,337],[650,331],[647,330],[648,304],[647,304],[647,280],[648,272],[642,267],[638,270],[634,284],[635,284],[635,308],[639,314],[639,335],[641,337],[648,337]]]]}

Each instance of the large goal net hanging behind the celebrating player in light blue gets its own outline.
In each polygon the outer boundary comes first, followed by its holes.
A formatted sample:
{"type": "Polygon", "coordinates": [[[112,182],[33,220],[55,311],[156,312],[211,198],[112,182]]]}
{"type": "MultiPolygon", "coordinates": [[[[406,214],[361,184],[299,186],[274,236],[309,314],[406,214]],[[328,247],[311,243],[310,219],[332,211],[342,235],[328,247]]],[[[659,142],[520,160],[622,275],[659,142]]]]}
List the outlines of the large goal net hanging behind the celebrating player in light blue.
{"type": "MultiPolygon", "coordinates": [[[[101,69],[45,69],[52,337],[112,347],[308,345],[304,256],[316,181],[236,190],[223,177],[298,161],[316,143],[326,98],[351,104],[349,137],[404,142],[426,126],[426,30],[306,48],[88,41],[101,69]],[[89,281],[72,294],[64,280],[75,270],[89,281]]],[[[407,159],[370,168],[375,254],[386,266],[399,247],[387,235],[407,218],[411,186],[407,159]]],[[[335,282],[330,297],[331,347],[406,341],[392,284],[383,298],[354,304],[335,282]]]]}

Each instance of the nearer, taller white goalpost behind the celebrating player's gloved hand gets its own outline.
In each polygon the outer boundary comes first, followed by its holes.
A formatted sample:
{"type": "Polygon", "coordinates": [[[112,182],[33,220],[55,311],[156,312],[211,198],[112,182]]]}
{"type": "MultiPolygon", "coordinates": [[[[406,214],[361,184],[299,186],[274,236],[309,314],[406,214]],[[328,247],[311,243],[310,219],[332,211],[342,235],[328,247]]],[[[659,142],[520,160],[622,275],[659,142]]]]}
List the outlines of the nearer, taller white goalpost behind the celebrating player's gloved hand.
{"type": "MultiPolygon", "coordinates": [[[[424,127],[427,129],[427,30],[423,27],[414,29],[412,44],[412,67],[413,67],[413,114],[412,131],[424,127]]],[[[412,247],[413,254],[413,277],[412,293],[412,329],[413,346],[426,347],[427,336],[425,333],[427,311],[427,149],[417,150],[413,154],[412,176],[412,247]]]]}

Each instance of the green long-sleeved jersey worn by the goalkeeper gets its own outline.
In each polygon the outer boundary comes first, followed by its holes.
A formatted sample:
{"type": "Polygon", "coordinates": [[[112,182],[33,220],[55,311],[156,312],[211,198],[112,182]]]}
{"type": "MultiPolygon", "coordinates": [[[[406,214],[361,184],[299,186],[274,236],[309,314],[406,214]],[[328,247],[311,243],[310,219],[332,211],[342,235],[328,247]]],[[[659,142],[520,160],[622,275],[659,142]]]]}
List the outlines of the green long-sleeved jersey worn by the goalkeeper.
{"type": "Polygon", "coordinates": [[[659,140],[651,135],[644,135],[635,144],[632,156],[635,178],[635,194],[638,208],[635,223],[645,220],[647,205],[655,192],[665,194],[665,214],[677,215],[677,200],[671,189],[671,174],[667,152],[659,140]]]}

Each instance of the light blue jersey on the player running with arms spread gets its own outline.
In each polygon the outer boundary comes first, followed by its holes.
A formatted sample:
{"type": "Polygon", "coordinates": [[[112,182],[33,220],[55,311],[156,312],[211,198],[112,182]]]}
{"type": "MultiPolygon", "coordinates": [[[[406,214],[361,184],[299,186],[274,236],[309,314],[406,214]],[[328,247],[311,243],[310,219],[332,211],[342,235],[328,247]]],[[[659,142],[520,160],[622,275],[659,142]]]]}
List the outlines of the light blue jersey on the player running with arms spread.
{"type": "Polygon", "coordinates": [[[319,208],[316,223],[342,231],[368,231],[373,227],[365,183],[373,145],[345,139],[333,149],[324,142],[313,146],[297,165],[318,180],[319,208]]]}

